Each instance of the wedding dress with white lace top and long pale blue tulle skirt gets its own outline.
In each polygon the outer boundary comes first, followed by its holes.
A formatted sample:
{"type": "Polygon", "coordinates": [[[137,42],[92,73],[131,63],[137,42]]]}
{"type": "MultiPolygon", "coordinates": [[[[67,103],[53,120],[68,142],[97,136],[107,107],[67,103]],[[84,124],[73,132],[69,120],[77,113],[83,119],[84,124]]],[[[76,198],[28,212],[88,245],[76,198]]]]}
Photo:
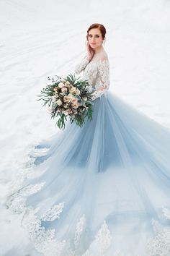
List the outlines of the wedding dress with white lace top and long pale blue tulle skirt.
{"type": "Polygon", "coordinates": [[[105,51],[75,73],[94,90],[93,119],[35,145],[7,207],[41,255],[170,255],[169,130],[109,91],[105,51]]]}

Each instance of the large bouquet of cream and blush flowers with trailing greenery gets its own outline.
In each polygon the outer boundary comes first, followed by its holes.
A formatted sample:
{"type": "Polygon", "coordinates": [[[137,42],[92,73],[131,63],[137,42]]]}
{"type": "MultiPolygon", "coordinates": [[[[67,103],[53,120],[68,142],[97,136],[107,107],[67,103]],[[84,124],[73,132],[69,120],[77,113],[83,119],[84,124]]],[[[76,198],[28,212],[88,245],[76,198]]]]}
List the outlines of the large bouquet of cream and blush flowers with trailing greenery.
{"type": "Polygon", "coordinates": [[[92,119],[92,92],[89,90],[87,80],[80,80],[73,74],[68,74],[66,78],[56,75],[56,80],[48,77],[51,81],[50,85],[41,90],[42,95],[37,101],[44,101],[43,106],[48,104],[51,119],[57,118],[56,125],[59,129],[65,128],[65,122],[69,117],[71,123],[73,121],[82,127],[85,123],[84,119],[92,119]]]}

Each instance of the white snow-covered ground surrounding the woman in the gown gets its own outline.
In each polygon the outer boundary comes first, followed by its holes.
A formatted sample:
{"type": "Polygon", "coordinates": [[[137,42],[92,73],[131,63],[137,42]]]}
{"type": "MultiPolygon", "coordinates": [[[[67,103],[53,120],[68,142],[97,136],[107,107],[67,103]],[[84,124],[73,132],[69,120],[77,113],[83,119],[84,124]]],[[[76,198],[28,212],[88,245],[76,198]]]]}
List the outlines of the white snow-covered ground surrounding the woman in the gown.
{"type": "Polygon", "coordinates": [[[0,255],[28,252],[8,252],[28,239],[6,211],[6,182],[32,145],[57,132],[37,95],[48,76],[73,72],[94,22],[107,28],[109,90],[170,128],[170,1],[0,0],[0,255]]]}

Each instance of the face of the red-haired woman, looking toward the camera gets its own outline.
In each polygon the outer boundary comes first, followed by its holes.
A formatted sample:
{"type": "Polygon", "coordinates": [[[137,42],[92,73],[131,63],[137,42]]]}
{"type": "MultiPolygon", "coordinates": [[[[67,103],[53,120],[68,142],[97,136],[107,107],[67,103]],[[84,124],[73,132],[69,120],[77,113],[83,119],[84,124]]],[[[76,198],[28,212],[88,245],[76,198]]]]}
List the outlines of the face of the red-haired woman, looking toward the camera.
{"type": "Polygon", "coordinates": [[[88,34],[88,41],[91,48],[97,48],[102,45],[102,33],[99,28],[91,28],[88,34]]]}

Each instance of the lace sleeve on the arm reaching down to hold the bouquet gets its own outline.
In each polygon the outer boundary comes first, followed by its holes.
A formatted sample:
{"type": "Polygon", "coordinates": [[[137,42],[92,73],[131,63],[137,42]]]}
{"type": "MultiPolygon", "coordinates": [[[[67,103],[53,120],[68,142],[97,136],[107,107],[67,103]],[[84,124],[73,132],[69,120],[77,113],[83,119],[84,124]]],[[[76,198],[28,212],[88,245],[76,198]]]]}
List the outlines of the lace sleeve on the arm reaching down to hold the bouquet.
{"type": "Polygon", "coordinates": [[[97,69],[99,77],[96,86],[97,90],[92,95],[93,101],[109,89],[109,60],[104,58],[97,61],[97,69]]]}

